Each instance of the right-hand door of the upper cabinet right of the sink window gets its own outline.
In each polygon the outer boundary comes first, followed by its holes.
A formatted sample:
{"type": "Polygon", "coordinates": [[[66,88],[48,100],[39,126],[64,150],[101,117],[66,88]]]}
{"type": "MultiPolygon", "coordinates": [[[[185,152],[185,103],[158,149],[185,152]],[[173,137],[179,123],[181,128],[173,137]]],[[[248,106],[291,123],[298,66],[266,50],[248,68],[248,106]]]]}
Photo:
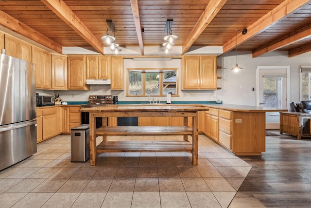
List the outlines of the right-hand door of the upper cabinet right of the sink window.
{"type": "Polygon", "coordinates": [[[217,57],[200,57],[200,89],[217,89],[217,57]]]}

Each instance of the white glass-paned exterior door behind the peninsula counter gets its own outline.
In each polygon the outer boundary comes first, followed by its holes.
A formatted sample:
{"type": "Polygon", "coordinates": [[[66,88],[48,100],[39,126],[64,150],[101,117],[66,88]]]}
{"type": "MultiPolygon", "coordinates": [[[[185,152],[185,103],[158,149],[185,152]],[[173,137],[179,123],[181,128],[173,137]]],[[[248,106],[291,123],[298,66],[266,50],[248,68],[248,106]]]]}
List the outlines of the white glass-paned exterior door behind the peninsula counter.
{"type": "MultiPolygon", "coordinates": [[[[256,106],[287,109],[290,66],[258,66],[256,106]]],[[[279,112],[266,113],[266,129],[279,129],[279,112]]]]}

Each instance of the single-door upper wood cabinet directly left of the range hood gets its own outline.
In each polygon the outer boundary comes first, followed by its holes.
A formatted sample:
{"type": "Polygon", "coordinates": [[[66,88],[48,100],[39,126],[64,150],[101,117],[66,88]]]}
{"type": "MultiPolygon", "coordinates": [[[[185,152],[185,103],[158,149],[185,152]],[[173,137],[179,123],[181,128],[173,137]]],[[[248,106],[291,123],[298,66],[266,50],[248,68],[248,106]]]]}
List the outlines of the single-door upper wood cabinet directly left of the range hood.
{"type": "Polygon", "coordinates": [[[86,85],[86,57],[68,57],[68,90],[89,90],[86,85]]]}

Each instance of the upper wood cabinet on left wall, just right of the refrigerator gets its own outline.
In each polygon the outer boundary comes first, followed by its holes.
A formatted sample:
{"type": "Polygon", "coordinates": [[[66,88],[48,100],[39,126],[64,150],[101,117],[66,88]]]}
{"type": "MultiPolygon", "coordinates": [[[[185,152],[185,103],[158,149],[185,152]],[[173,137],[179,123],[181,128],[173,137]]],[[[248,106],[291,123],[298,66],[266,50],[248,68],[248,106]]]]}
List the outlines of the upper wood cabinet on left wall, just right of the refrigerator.
{"type": "Polygon", "coordinates": [[[33,46],[32,62],[35,63],[35,87],[51,89],[51,54],[33,46]]]}

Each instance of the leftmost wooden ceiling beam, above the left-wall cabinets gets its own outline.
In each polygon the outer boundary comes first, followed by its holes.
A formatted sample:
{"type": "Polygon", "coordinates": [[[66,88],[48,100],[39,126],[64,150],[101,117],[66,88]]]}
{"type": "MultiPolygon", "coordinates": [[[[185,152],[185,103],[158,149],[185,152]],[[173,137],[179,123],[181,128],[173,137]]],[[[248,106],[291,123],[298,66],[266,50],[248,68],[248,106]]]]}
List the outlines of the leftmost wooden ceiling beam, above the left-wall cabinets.
{"type": "Polygon", "coordinates": [[[57,53],[63,54],[63,48],[60,44],[35,31],[31,27],[25,25],[24,23],[18,21],[1,10],[0,25],[18,33],[19,35],[24,36],[25,38],[29,38],[47,48],[50,48],[57,53]]]}

